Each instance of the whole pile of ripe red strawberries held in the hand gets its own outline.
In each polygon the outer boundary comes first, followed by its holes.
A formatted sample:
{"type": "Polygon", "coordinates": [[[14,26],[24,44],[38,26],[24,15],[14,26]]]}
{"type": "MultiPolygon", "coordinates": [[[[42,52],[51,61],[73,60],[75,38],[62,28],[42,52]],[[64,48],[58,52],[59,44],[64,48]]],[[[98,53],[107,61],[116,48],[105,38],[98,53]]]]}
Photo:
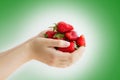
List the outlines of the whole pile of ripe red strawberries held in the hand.
{"type": "Polygon", "coordinates": [[[78,36],[72,25],[61,21],[55,24],[52,28],[52,31],[48,30],[45,33],[46,38],[60,39],[70,42],[69,47],[56,47],[57,50],[72,53],[79,47],[86,45],[84,36],[78,36]]]}

